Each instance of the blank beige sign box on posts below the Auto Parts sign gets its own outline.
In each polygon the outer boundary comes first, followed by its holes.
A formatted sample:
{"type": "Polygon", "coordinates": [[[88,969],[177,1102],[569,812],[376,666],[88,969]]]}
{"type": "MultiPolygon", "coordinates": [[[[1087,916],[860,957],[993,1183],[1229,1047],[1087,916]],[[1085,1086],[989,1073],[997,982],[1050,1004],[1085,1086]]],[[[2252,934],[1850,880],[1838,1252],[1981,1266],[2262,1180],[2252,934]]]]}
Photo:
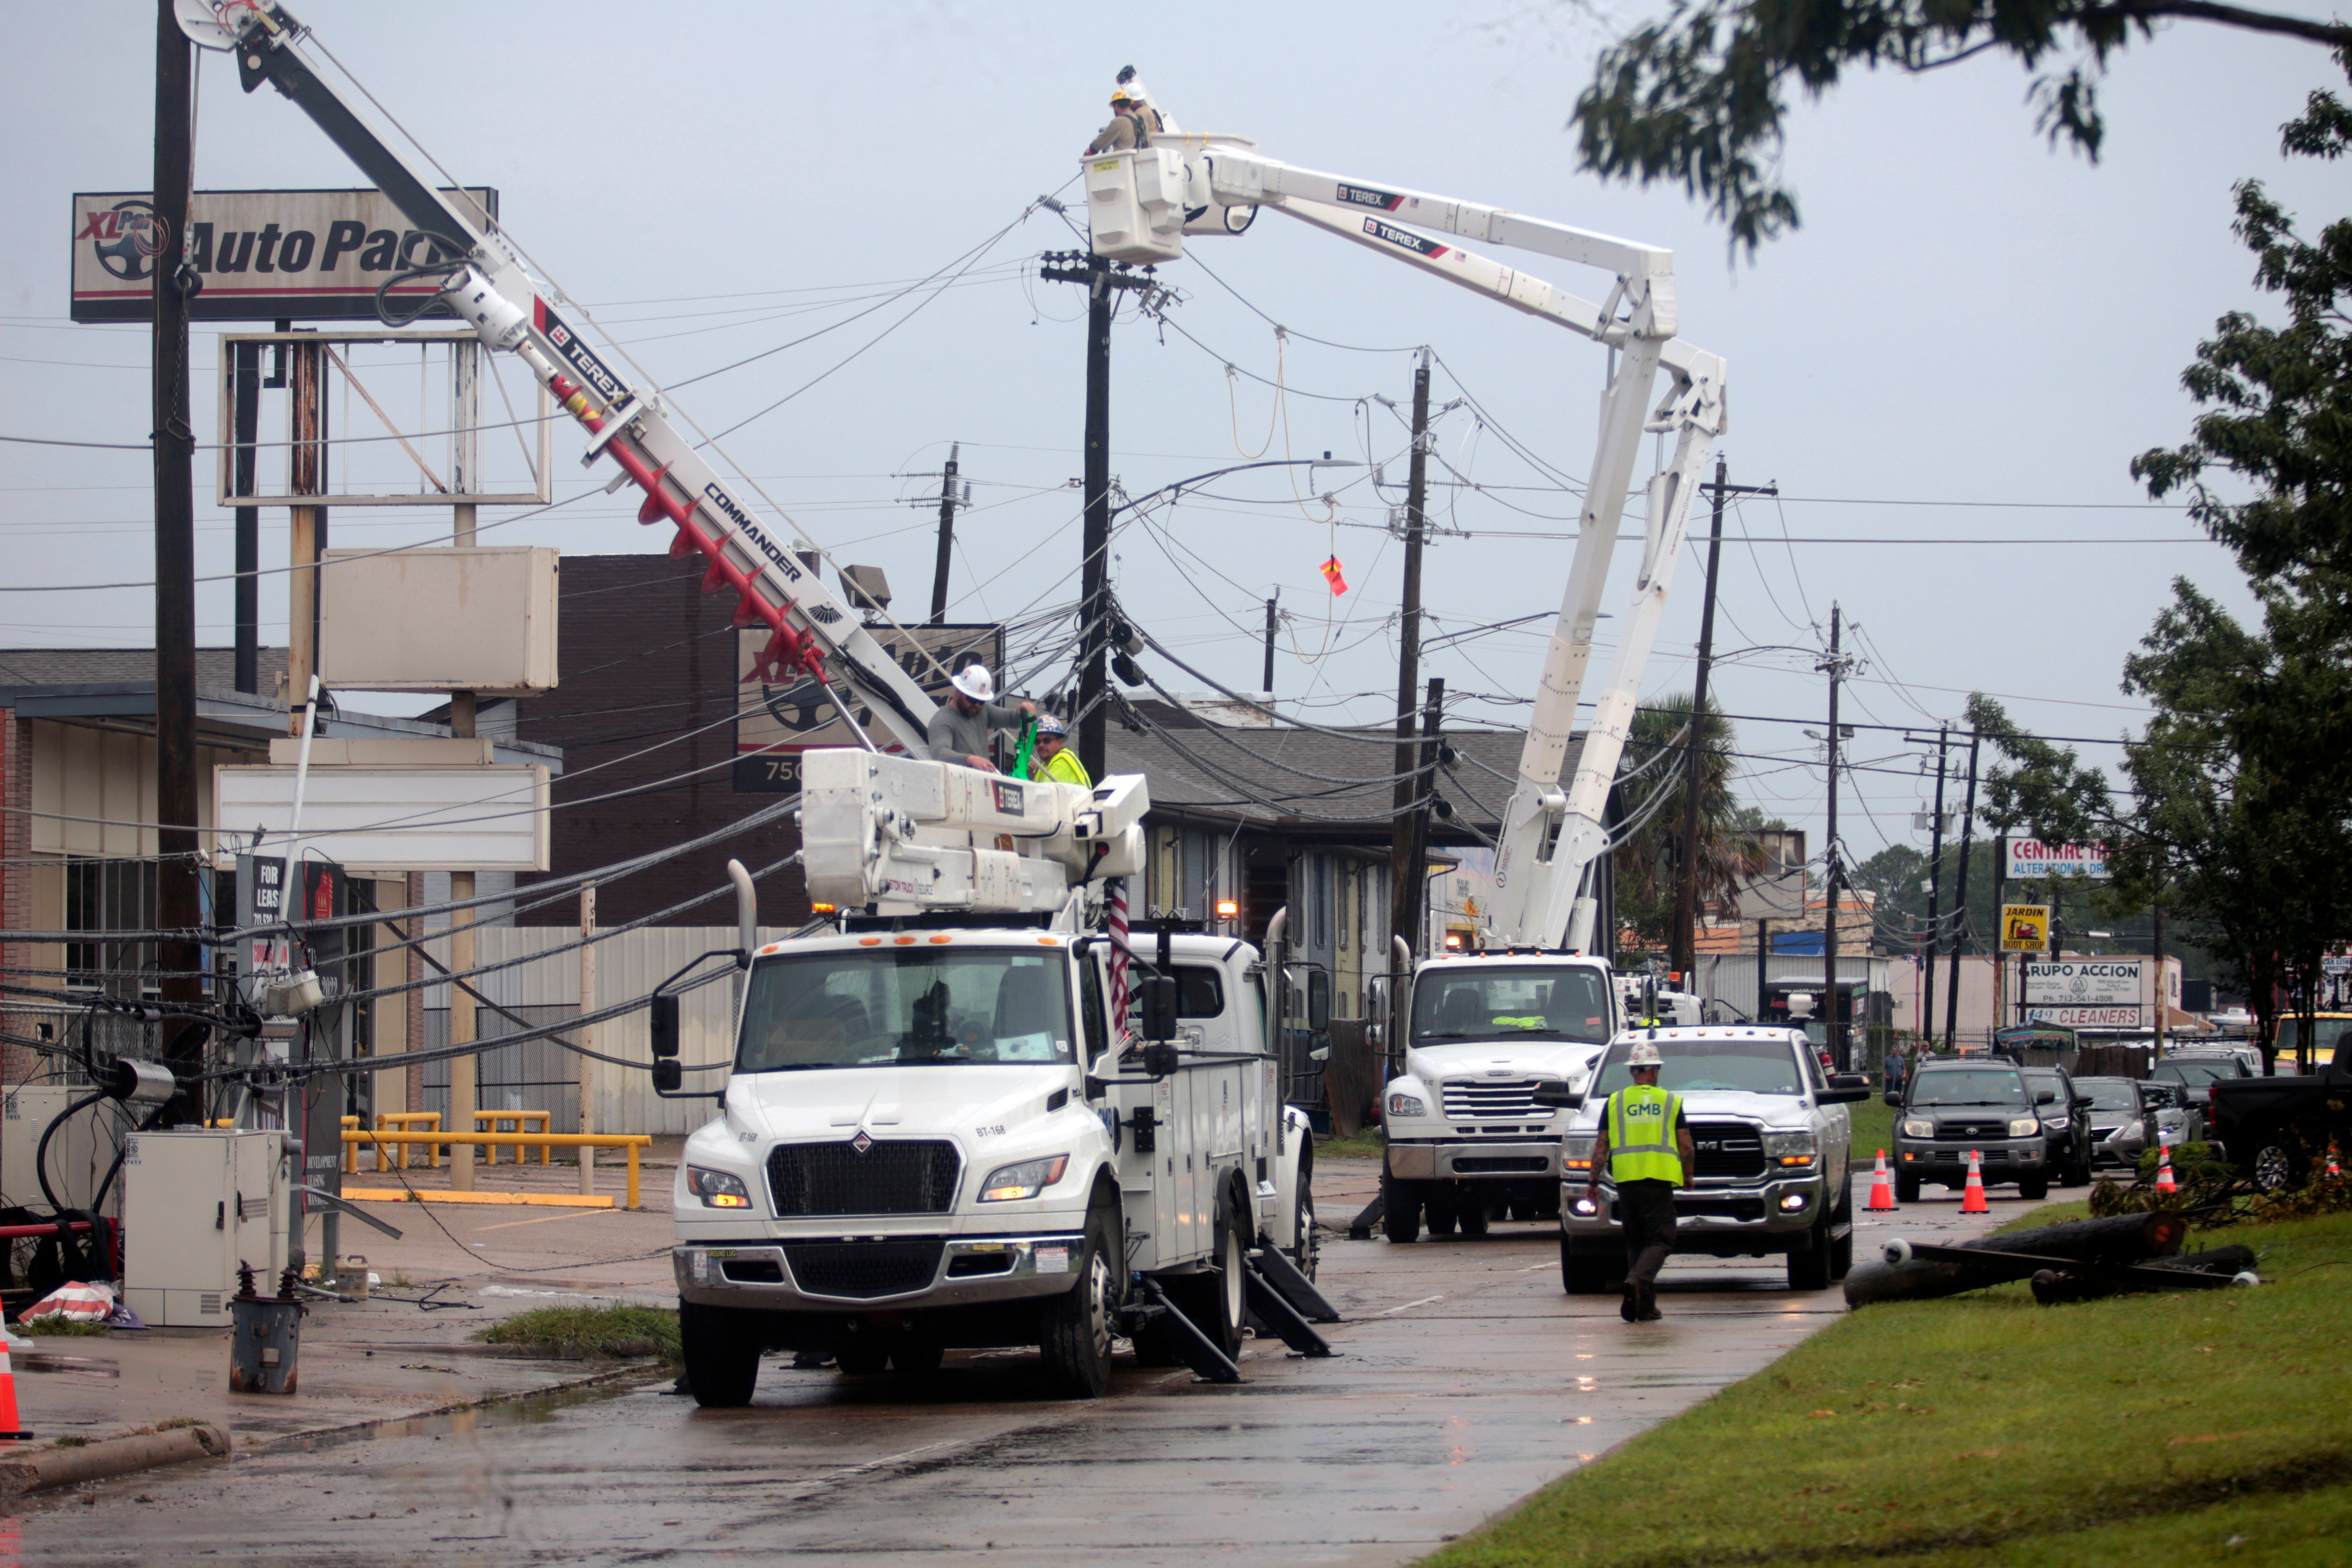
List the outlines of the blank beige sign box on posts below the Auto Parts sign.
{"type": "Polygon", "coordinates": [[[318,663],[329,686],[555,689],[555,550],[327,550],[320,562],[318,663]]]}

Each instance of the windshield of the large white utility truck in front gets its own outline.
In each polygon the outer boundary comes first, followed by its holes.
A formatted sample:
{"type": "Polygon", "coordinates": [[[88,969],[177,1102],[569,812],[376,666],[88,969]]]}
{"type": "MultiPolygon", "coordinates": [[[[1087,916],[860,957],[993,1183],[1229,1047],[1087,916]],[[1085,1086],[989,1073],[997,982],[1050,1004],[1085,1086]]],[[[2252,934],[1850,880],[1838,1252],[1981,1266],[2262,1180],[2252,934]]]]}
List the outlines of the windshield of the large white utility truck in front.
{"type": "Polygon", "coordinates": [[[736,1070],[1068,1063],[1073,1039],[1058,952],[835,950],[753,966],[736,1070]]]}

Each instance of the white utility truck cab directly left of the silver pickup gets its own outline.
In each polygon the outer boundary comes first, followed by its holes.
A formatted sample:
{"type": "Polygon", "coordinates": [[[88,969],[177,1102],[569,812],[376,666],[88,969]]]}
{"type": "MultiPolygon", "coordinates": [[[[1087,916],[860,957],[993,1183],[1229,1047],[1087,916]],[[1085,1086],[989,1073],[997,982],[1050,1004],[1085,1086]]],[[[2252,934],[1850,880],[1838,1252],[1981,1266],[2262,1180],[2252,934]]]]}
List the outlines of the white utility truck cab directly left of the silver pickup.
{"type": "Polygon", "coordinates": [[[1397,1009],[1404,1070],[1381,1091],[1388,1161],[1381,1225],[1390,1241],[1559,1206],[1564,1117],[1538,1088],[1581,1091],[1623,1025],[1616,978],[1595,957],[1477,952],[1428,959],[1397,1009]]]}

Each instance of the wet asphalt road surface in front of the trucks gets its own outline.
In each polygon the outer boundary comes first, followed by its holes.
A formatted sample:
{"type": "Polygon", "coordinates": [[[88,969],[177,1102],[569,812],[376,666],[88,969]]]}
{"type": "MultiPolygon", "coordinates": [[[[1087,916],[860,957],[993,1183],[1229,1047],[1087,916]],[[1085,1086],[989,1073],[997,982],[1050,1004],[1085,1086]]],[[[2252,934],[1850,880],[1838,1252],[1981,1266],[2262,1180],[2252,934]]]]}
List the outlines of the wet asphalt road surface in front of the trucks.
{"type": "MultiPolygon", "coordinates": [[[[1985,1227],[1931,1194],[1889,1234],[1985,1227]]],[[[2020,1208],[1994,1197],[1992,1222],[2020,1208]]],[[[1559,1288],[1557,1229],[1331,1241],[1338,1356],[1251,1342],[1242,1387],[1122,1359],[1108,1399],[1037,1399],[1033,1354],[920,1385],[790,1371],[748,1410],[644,1385],[278,1446],[19,1505],[0,1568],[155,1563],[1406,1563],[1766,1366],[1844,1312],[1778,1260],[1675,1260],[1663,1324],[1559,1288]]]]}

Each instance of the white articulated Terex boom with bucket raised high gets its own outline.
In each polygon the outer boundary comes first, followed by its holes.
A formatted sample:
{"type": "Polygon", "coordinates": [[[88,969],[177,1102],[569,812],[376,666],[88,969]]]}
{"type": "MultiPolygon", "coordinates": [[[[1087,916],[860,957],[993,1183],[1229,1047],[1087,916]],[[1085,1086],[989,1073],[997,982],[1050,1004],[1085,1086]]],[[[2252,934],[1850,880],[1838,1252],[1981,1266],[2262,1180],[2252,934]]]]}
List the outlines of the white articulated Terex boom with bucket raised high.
{"type": "Polygon", "coordinates": [[[1632,726],[1642,668],[1665,614],[1665,590],[1691,520],[1698,475],[1724,430],[1724,362],[1675,336],[1672,252],[1529,219],[1501,207],[1374,186],[1261,158],[1240,136],[1155,136],[1150,148],[1087,160],[1094,249],[1120,261],[1174,261],[1183,235],[1249,228],[1235,209],[1270,207],[1397,256],[1538,320],[1621,350],[1602,400],[1592,477],[1578,517],[1569,585],[1543,661],[1519,776],[1496,839],[1494,936],[1508,945],[1590,947],[1595,900],[1583,884],[1606,846],[1602,811],[1632,726]],[[1235,216],[1228,216],[1235,212],[1235,216]],[[1237,221],[1240,216],[1240,221],[1237,221]],[[1411,223],[1414,228],[1404,228],[1411,223]],[[1515,244],[1602,268],[1616,287],[1599,306],[1425,233],[1515,244]],[[1658,371],[1670,388],[1651,404],[1658,371]],[[1606,686],[1595,703],[1576,778],[1566,764],[1576,698],[1592,658],[1609,557],[1642,435],[1672,433],[1675,456],[1649,480],[1642,569],[1606,686]]]}

